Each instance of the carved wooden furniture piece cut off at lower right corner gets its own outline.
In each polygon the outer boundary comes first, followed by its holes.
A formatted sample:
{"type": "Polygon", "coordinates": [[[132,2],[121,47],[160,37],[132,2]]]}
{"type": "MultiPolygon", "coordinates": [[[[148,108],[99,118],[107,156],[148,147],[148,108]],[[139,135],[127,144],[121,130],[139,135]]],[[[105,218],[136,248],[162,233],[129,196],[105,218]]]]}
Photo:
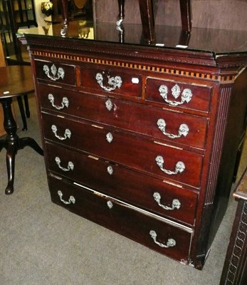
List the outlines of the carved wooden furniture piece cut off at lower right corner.
{"type": "Polygon", "coordinates": [[[233,197],[238,207],[220,285],[247,284],[247,168],[233,197]]]}

